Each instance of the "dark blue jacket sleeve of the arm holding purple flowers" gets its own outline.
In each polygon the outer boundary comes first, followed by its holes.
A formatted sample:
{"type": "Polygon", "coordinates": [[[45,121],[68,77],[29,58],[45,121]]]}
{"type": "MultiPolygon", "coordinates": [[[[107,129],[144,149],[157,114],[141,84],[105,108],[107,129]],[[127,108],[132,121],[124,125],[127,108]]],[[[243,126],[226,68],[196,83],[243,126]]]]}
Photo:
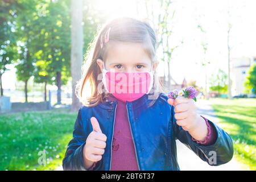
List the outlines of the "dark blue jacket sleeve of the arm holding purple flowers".
{"type": "Polygon", "coordinates": [[[219,166],[228,163],[233,158],[234,149],[232,139],[215,123],[208,119],[209,124],[213,126],[217,133],[217,139],[213,144],[204,146],[203,144],[193,141],[188,131],[183,130],[181,126],[177,125],[173,106],[171,108],[171,113],[175,137],[210,166],[219,166]]]}

